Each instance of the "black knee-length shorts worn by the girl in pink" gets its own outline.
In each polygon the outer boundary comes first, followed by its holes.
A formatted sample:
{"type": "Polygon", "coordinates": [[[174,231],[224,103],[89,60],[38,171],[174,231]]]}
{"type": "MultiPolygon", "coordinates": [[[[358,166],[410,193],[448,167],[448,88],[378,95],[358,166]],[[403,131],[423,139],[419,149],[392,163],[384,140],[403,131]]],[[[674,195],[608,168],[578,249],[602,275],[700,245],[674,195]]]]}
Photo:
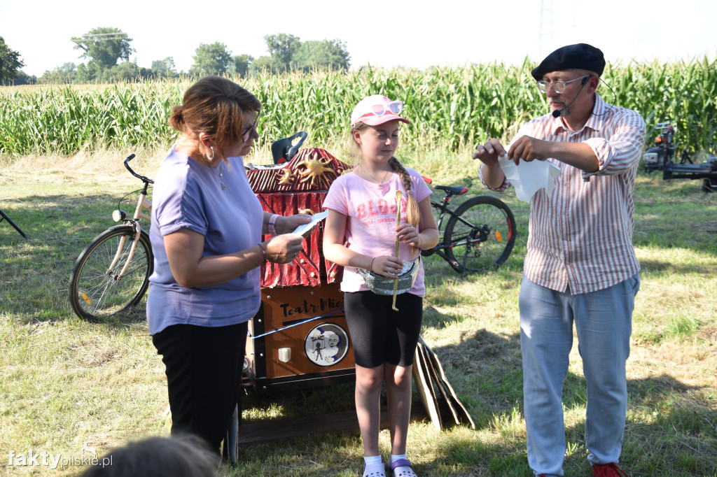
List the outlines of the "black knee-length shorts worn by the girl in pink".
{"type": "Polygon", "coordinates": [[[413,364],[421,333],[423,299],[410,293],[396,297],[398,312],[391,309],[391,295],[353,291],[343,295],[346,323],[353,355],[361,367],[413,364]]]}

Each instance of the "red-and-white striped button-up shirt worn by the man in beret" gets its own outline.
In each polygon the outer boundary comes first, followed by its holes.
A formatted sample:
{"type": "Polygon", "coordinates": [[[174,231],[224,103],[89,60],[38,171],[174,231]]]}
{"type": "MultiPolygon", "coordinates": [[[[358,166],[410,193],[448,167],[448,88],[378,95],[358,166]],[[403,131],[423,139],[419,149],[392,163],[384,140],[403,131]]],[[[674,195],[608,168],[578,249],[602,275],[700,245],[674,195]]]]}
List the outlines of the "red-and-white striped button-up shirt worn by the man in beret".
{"type": "MultiPolygon", "coordinates": [[[[578,132],[547,114],[527,122],[513,138],[514,142],[528,135],[585,143],[599,160],[597,172],[584,173],[549,158],[561,168],[556,187],[550,195],[540,189],[531,199],[523,273],[549,289],[569,287],[571,294],[607,288],[640,270],[632,248],[632,190],[645,143],[645,121],[638,112],[607,105],[596,96],[593,115],[578,132]]],[[[494,190],[508,186],[506,180],[494,190]]]]}

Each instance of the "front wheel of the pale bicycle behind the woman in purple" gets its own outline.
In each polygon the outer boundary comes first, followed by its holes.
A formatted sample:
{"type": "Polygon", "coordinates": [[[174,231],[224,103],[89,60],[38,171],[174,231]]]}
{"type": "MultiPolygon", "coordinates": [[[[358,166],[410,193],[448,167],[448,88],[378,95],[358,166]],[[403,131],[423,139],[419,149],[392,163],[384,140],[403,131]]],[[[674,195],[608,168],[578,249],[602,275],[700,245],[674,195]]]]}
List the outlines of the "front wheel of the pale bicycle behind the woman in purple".
{"type": "Polygon", "coordinates": [[[78,317],[87,320],[108,317],[142,299],[153,269],[152,246],[145,231],[141,232],[124,276],[117,279],[127,262],[134,236],[133,226],[110,227],[77,257],[70,275],[70,305],[78,317]],[[110,269],[115,255],[118,259],[110,269]]]}

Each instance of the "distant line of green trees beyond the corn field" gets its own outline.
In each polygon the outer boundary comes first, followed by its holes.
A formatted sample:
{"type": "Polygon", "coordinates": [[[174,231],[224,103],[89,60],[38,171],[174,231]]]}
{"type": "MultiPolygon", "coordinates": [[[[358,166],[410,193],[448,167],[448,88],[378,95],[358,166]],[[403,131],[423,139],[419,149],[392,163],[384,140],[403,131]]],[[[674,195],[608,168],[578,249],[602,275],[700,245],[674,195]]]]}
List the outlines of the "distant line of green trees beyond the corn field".
{"type": "Polygon", "coordinates": [[[180,76],[203,77],[207,74],[232,74],[247,77],[255,72],[305,71],[332,69],[347,71],[351,57],[346,44],[338,39],[302,42],[292,34],[278,33],[264,37],[268,56],[254,58],[249,54],[233,54],[221,42],[199,44],[189,71],[177,71],[174,58],[156,59],[150,67],[130,62],[136,52],[132,39],[120,29],[100,27],[80,37],[72,37],[80,59],[87,62],[67,62],[42,76],[30,76],[22,71],[24,62],[19,52],[11,49],[0,37],[0,85],[34,85],[57,83],[118,82],[149,78],[180,76]]]}

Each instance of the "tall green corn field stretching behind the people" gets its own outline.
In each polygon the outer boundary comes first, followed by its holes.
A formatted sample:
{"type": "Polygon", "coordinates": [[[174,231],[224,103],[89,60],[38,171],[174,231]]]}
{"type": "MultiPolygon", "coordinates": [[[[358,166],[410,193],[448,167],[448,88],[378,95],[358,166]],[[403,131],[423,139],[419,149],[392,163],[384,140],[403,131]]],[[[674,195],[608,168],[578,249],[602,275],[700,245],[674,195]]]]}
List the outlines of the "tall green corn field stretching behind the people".
{"type": "MultiPolygon", "coordinates": [[[[348,134],[348,118],[362,97],[381,93],[404,101],[411,124],[402,142],[414,148],[473,147],[486,138],[508,140],[519,125],[548,111],[530,75],[533,63],[460,68],[372,69],[355,72],[256,75],[242,80],[262,102],[260,142],[298,130],[321,145],[348,134]]],[[[711,150],[717,142],[717,59],[670,64],[607,64],[606,102],[639,111],[647,138],[655,122],[671,121],[678,149],[711,150]]],[[[0,156],[72,155],[96,148],[166,148],[167,125],[189,80],[117,85],[0,87],[0,156]]]]}

